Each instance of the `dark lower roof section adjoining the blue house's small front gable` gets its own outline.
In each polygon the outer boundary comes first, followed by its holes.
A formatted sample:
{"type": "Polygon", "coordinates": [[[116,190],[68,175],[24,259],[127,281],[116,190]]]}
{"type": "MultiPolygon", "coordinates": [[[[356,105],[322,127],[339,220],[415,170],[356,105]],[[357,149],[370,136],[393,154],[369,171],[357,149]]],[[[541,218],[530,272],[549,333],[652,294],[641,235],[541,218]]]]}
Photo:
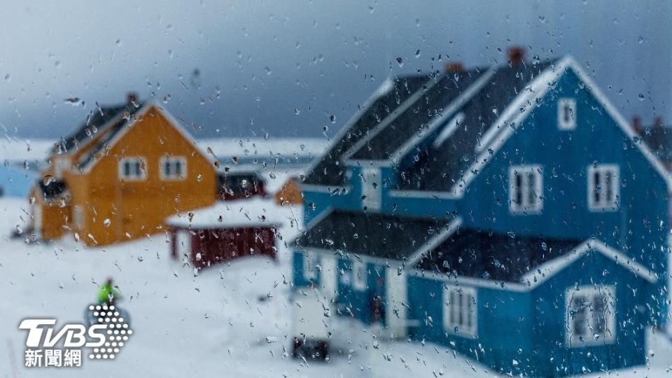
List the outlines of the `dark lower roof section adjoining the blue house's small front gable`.
{"type": "Polygon", "coordinates": [[[519,282],[527,272],[572,251],[582,242],[462,228],[423,255],[415,268],[458,277],[519,282]]]}

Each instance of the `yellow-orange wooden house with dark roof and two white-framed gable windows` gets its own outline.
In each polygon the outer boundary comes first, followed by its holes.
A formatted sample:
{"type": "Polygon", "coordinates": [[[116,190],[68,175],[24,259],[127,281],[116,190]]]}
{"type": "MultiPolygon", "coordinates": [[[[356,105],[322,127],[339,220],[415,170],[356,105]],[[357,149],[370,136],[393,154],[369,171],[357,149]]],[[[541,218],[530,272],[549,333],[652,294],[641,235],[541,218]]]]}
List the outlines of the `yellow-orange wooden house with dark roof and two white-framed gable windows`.
{"type": "Polygon", "coordinates": [[[29,195],[32,230],[44,240],[146,237],[164,232],[167,216],[216,201],[214,160],[158,102],[130,96],[96,109],[48,162],[29,195]]]}

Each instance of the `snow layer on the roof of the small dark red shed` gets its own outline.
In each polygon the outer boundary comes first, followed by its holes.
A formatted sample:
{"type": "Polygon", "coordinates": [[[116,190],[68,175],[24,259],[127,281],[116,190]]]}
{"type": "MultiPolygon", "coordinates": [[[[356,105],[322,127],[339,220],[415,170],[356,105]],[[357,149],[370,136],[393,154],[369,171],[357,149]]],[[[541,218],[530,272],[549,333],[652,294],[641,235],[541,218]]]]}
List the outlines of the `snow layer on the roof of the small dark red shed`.
{"type": "Polygon", "coordinates": [[[211,207],[171,216],[166,223],[191,228],[244,228],[281,225],[284,221],[273,200],[257,197],[217,202],[211,207]]]}

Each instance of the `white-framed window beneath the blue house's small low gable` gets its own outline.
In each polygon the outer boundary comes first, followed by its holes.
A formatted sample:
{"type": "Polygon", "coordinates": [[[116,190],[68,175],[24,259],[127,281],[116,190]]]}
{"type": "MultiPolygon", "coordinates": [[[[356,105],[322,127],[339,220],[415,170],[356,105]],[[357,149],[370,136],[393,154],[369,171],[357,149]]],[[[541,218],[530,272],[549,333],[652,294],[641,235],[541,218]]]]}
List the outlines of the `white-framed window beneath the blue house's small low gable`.
{"type": "Polygon", "coordinates": [[[570,347],[611,344],[616,339],[614,286],[579,286],[566,293],[566,342],[570,347]]]}

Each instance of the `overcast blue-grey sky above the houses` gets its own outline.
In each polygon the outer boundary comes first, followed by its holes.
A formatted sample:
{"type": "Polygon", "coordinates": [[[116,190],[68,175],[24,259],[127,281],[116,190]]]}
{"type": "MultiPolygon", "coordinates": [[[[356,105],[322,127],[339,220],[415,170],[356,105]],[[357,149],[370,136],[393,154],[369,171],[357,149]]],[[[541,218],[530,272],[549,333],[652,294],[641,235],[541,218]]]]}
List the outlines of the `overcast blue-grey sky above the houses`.
{"type": "Polygon", "coordinates": [[[333,134],[386,76],[429,71],[447,60],[504,62],[514,44],[542,59],[574,55],[628,118],[672,119],[665,1],[3,1],[2,7],[0,126],[10,136],[67,134],[95,102],[122,102],[129,91],[169,97],[169,111],[192,123],[197,136],[315,137],[325,125],[333,134]],[[64,103],[69,97],[85,106],[64,103]]]}

